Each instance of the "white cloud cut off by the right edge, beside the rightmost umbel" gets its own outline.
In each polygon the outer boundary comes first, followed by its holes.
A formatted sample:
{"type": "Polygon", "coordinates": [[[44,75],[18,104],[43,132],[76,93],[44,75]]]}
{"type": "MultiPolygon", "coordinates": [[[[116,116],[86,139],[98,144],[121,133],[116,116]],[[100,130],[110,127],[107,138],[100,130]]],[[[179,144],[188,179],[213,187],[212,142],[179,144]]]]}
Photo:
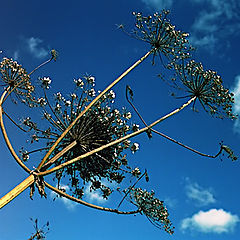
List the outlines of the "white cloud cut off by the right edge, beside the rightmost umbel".
{"type": "MultiPolygon", "coordinates": [[[[233,112],[240,116],[240,75],[235,78],[235,86],[232,89],[234,93],[235,103],[233,105],[233,112]]],[[[240,119],[235,120],[234,131],[240,133],[240,119]]]]}

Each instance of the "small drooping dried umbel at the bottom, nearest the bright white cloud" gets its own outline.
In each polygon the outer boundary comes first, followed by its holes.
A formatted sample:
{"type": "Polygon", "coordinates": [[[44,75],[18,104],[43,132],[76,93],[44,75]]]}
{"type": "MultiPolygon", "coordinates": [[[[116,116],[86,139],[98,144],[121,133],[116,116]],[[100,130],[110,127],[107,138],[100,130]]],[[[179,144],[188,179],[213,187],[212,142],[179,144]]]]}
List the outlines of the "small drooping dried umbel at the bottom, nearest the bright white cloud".
{"type": "Polygon", "coordinates": [[[154,196],[153,191],[148,192],[141,188],[132,188],[130,194],[131,200],[134,201],[153,225],[173,234],[174,228],[168,218],[168,210],[164,206],[163,201],[154,196]]]}

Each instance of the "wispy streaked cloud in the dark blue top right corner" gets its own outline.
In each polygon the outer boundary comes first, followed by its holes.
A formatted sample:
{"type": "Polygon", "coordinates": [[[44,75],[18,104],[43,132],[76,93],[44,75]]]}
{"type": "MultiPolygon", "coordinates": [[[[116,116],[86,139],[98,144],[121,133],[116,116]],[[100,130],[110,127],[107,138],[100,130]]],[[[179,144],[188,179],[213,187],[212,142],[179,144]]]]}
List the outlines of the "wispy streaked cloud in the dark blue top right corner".
{"type": "Polygon", "coordinates": [[[202,9],[192,25],[192,44],[200,47],[215,48],[233,33],[240,30],[239,0],[192,0],[202,9]]]}

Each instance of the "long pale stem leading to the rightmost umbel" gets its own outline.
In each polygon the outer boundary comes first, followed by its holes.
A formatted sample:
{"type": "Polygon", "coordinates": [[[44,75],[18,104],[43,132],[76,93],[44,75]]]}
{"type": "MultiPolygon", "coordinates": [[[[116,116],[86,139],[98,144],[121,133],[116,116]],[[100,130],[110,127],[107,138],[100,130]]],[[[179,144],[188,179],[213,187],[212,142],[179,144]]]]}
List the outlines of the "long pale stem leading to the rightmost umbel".
{"type": "Polygon", "coordinates": [[[122,137],[122,138],[119,138],[119,139],[117,139],[117,140],[115,140],[115,141],[112,141],[112,142],[110,142],[110,143],[108,143],[108,144],[106,144],[106,145],[104,145],[104,146],[101,146],[101,147],[99,147],[99,148],[96,148],[96,149],[94,149],[94,150],[92,150],[92,151],[90,151],[90,152],[87,152],[87,153],[85,153],[85,154],[82,154],[82,155],[80,155],[80,156],[78,156],[78,157],[76,157],[76,158],[73,158],[73,159],[71,159],[71,160],[69,160],[69,161],[67,161],[67,162],[65,162],[65,163],[62,163],[62,164],[60,164],[59,166],[56,166],[56,167],[54,167],[54,168],[52,168],[52,169],[49,169],[49,170],[44,171],[44,172],[40,172],[39,175],[45,176],[45,175],[48,175],[48,174],[53,173],[53,172],[55,172],[55,171],[58,171],[58,170],[66,167],[66,166],[68,166],[68,165],[71,165],[71,164],[73,164],[73,163],[75,163],[75,162],[80,161],[80,160],[83,159],[83,158],[89,157],[89,156],[92,155],[92,154],[95,154],[95,153],[97,153],[97,152],[99,152],[99,151],[102,151],[102,150],[105,149],[105,148],[111,147],[111,146],[116,145],[116,144],[118,144],[118,143],[121,143],[121,142],[123,142],[123,141],[125,141],[125,140],[127,140],[127,139],[129,139],[129,138],[135,137],[135,136],[137,136],[137,135],[139,135],[139,134],[141,134],[141,133],[143,133],[143,132],[146,132],[148,129],[151,129],[153,126],[157,125],[158,123],[166,120],[167,118],[169,118],[169,117],[173,116],[174,114],[176,114],[176,113],[180,112],[181,110],[183,110],[185,107],[187,107],[188,105],[190,105],[195,99],[196,99],[196,97],[191,98],[188,102],[186,102],[185,104],[183,104],[181,107],[175,109],[174,111],[168,113],[167,115],[163,116],[162,118],[156,120],[155,122],[153,122],[152,124],[148,125],[147,127],[144,127],[144,128],[142,128],[142,129],[140,129],[140,130],[138,130],[138,131],[136,131],[136,132],[130,133],[130,134],[128,134],[128,135],[126,135],[126,136],[124,136],[124,137],[122,137]]]}

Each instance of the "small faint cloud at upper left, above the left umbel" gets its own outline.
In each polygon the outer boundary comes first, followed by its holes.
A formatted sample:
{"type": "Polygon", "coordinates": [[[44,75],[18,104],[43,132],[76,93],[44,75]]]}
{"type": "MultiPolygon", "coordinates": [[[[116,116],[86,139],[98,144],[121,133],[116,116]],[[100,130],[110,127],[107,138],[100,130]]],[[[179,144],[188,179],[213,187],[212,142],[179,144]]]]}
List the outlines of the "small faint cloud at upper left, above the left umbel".
{"type": "Polygon", "coordinates": [[[34,37],[26,39],[28,50],[36,58],[44,58],[48,55],[48,51],[39,46],[42,42],[41,39],[34,37]]]}

